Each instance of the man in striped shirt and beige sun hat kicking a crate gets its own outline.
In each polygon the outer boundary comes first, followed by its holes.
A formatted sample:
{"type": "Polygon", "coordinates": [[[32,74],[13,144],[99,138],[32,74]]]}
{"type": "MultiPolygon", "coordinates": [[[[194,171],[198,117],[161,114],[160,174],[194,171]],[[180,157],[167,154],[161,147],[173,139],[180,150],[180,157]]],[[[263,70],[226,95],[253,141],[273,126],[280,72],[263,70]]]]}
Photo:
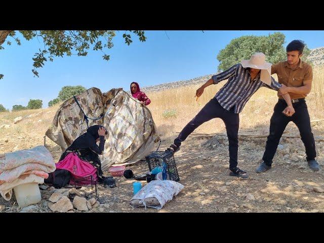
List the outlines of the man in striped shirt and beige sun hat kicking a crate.
{"type": "MultiPolygon", "coordinates": [[[[263,53],[255,53],[250,60],[242,60],[228,70],[212,76],[196,91],[196,96],[203,94],[204,89],[212,84],[218,84],[228,79],[227,83],[217,92],[198,114],[184,127],[174,143],[168,148],[173,152],[180,149],[183,142],[197,127],[213,118],[221,118],[226,127],[229,142],[229,169],[231,176],[248,178],[245,171],[237,167],[239,112],[251,96],[261,87],[278,91],[282,86],[271,77],[271,63],[265,62],[263,53]]],[[[288,106],[284,109],[286,115],[291,116],[295,110],[289,94],[282,97],[288,106]]]]}

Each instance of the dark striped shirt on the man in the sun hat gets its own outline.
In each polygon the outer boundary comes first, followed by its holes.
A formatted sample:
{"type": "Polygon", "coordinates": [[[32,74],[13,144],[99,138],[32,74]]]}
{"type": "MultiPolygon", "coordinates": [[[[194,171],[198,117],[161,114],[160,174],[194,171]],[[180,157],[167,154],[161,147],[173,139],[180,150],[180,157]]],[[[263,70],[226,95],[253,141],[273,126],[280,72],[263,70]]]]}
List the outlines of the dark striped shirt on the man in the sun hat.
{"type": "Polygon", "coordinates": [[[219,104],[226,110],[233,106],[234,113],[239,113],[251,96],[261,87],[267,87],[272,90],[279,90],[281,85],[271,77],[271,86],[260,80],[260,72],[251,82],[251,75],[248,68],[242,67],[240,63],[230,67],[228,70],[212,76],[214,84],[228,79],[227,83],[217,92],[215,98],[219,104]]]}

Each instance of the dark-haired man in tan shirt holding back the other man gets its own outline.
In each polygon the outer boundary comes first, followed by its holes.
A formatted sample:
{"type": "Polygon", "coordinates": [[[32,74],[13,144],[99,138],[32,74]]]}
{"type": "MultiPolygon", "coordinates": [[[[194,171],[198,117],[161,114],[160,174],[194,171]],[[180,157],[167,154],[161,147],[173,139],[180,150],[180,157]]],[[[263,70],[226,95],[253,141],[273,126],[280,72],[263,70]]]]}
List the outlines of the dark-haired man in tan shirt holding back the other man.
{"type": "Polygon", "coordinates": [[[319,165],[315,160],[315,141],[305,101],[305,97],[311,90],[313,70],[309,64],[300,59],[303,55],[304,46],[305,44],[300,40],[292,41],[286,48],[287,61],[271,66],[271,74],[276,73],[278,82],[283,86],[278,92],[279,100],[274,106],[274,112],[270,120],[270,133],[262,157],[263,163],[257,168],[257,173],[271,169],[272,159],[279,140],[290,121],[293,121],[299,129],[310,169],[313,171],[319,170],[319,165]],[[287,93],[289,93],[295,109],[295,114],[292,116],[286,116],[282,113],[282,109],[287,106],[286,101],[282,99],[282,95],[287,93]]]}

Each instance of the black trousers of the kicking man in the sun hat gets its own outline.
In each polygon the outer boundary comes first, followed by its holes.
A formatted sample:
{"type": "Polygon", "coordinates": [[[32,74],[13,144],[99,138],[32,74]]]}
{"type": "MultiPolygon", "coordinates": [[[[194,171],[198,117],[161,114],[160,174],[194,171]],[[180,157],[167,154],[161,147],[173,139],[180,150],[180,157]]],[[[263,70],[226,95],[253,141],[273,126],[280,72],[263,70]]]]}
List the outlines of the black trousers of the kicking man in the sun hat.
{"type": "Polygon", "coordinates": [[[231,110],[224,109],[216,98],[211,99],[198,114],[182,129],[179,136],[174,140],[175,145],[180,146],[197,127],[213,118],[221,118],[226,126],[226,132],[229,143],[229,169],[235,171],[237,166],[237,150],[238,150],[238,127],[239,115],[231,110]]]}

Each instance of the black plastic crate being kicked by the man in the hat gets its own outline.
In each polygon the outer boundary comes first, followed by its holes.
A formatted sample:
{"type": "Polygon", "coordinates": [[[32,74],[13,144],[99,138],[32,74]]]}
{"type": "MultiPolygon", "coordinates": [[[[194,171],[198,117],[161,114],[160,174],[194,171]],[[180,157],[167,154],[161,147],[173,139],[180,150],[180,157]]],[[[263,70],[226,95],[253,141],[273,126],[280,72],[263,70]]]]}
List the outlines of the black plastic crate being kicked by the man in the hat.
{"type": "Polygon", "coordinates": [[[157,166],[163,166],[163,161],[167,164],[167,173],[172,181],[180,181],[176,161],[171,151],[155,151],[147,155],[146,161],[148,169],[151,171],[157,166]]]}

